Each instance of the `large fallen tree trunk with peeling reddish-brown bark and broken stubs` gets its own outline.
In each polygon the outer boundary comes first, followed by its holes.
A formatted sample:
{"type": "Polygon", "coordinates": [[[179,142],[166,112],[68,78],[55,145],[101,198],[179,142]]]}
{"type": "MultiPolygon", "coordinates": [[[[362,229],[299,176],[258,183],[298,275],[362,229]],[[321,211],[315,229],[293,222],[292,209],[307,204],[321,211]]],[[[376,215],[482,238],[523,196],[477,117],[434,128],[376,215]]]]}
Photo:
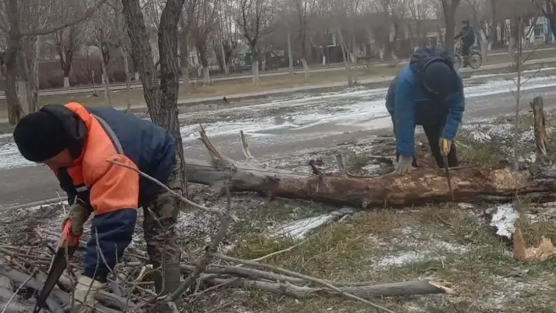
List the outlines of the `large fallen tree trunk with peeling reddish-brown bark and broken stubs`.
{"type": "MultiPolygon", "coordinates": [[[[362,208],[452,200],[444,172],[436,168],[419,168],[410,175],[373,178],[303,174],[258,163],[248,153],[243,133],[240,134],[242,150],[249,161],[225,157],[211,143],[204,129],[199,134],[212,160],[186,159],[190,182],[197,184],[218,187],[227,181],[230,191],[254,191],[270,197],[362,208]]],[[[529,171],[508,168],[471,167],[450,172],[456,201],[499,202],[513,200],[516,195],[541,201],[556,198],[556,170],[539,170],[532,175],[529,171]]]]}

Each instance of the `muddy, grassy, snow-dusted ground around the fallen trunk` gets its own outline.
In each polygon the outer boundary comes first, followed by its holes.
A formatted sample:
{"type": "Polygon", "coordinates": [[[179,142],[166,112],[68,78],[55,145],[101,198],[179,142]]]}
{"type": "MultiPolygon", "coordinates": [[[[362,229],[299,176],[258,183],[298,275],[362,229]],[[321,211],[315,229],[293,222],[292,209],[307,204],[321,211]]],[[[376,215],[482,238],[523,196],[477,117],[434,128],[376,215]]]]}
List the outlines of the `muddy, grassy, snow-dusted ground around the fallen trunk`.
{"type": "MultiPolygon", "coordinates": [[[[548,114],[549,134],[556,130],[554,116],[554,112],[548,114]]],[[[512,123],[511,118],[502,117],[465,125],[458,141],[461,160],[470,165],[488,165],[509,159],[512,123]]],[[[531,125],[528,113],[521,118],[518,129],[523,166],[534,161],[530,154],[531,125]]],[[[419,139],[420,164],[430,166],[432,159],[423,144],[426,141],[421,136],[419,139]]],[[[393,138],[373,138],[267,164],[309,172],[306,163],[313,159],[324,172],[332,173],[337,171],[334,154],[341,151],[350,172],[381,175],[393,167],[369,156],[390,157],[394,149],[393,138]]],[[[550,142],[549,151],[555,149],[550,142]]],[[[225,206],[220,195],[207,186],[193,185],[192,193],[199,204],[225,206]]],[[[530,203],[517,196],[512,206],[519,212],[518,226],[529,245],[537,245],[541,235],[556,239],[556,204],[530,203]]],[[[33,241],[38,228],[58,232],[61,211],[60,205],[0,211],[1,241],[22,246],[33,241]]],[[[452,295],[373,300],[394,312],[556,312],[555,260],[516,262],[508,239],[498,236],[490,225],[495,211],[495,204],[481,203],[356,211],[236,193],[232,195],[232,225],[222,248],[229,255],[254,259],[298,245],[265,262],[341,282],[444,280],[455,291],[452,295]]],[[[139,220],[134,243],[142,247],[140,225],[139,220]]],[[[210,241],[217,227],[213,216],[194,209],[182,212],[177,232],[186,260],[199,254],[199,248],[210,241]]],[[[375,312],[351,300],[318,296],[293,299],[225,287],[190,296],[187,303],[188,312],[375,312]]]]}

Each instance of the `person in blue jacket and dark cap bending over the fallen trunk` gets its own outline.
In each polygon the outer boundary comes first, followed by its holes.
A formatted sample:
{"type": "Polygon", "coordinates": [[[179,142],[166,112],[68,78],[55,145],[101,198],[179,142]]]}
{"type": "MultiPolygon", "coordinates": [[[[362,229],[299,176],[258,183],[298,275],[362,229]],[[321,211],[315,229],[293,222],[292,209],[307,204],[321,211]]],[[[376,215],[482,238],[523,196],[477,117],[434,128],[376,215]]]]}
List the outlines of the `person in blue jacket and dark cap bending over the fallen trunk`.
{"type": "Polygon", "coordinates": [[[453,141],[465,109],[464,85],[447,51],[432,46],[415,51],[392,81],[386,109],[394,125],[398,173],[416,166],[416,125],[423,125],[438,166],[444,166],[443,157],[448,166],[457,166],[453,141]]]}

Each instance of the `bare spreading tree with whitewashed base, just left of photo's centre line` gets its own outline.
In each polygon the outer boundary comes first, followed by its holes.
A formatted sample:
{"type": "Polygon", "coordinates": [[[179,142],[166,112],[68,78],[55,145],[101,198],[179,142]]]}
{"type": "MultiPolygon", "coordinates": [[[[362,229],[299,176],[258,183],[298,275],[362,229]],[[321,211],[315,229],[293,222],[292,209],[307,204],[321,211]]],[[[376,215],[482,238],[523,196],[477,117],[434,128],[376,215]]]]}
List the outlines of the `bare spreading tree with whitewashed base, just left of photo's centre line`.
{"type": "Polygon", "coordinates": [[[238,25],[252,53],[253,84],[259,84],[259,40],[270,31],[272,5],[270,0],[239,0],[238,25]]]}

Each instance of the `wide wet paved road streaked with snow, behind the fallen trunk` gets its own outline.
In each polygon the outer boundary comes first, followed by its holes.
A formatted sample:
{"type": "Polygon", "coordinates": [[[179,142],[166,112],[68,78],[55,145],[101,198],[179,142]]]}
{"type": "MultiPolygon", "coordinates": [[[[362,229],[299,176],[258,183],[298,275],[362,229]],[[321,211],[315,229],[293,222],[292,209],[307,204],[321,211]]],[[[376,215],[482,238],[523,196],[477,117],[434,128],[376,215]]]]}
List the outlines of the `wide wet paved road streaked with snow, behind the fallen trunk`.
{"type": "MultiPolygon", "coordinates": [[[[489,118],[514,110],[509,91],[512,81],[471,83],[466,86],[466,120],[489,118]]],[[[556,106],[556,76],[535,77],[528,82],[523,103],[542,95],[545,106],[556,106]]],[[[197,138],[197,125],[222,152],[240,159],[238,131],[243,129],[254,157],[272,159],[304,153],[321,147],[334,147],[353,139],[388,133],[390,119],[384,111],[385,88],[354,88],[341,93],[304,93],[276,97],[266,103],[233,109],[206,108],[181,116],[186,125],[181,133],[186,155],[206,158],[197,138]]],[[[4,138],[6,139],[6,138],[4,138]]],[[[13,143],[0,147],[0,207],[55,198],[58,184],[44,166],[22,162],[13,143]]]]}

